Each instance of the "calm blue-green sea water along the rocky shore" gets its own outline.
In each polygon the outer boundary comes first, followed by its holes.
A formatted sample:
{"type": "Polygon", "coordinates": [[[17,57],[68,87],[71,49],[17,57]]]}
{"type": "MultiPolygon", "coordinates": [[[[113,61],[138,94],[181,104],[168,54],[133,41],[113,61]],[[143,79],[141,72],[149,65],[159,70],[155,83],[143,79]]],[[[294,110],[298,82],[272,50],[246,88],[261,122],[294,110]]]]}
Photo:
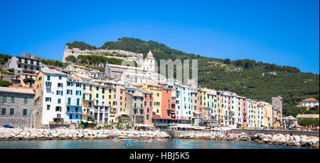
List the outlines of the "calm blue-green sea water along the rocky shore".
{"type": "Polygon", "coordinates": [[[0,141],[2,149],[302,149],[257,142],[215,140],[18,140],[0,141]]]}

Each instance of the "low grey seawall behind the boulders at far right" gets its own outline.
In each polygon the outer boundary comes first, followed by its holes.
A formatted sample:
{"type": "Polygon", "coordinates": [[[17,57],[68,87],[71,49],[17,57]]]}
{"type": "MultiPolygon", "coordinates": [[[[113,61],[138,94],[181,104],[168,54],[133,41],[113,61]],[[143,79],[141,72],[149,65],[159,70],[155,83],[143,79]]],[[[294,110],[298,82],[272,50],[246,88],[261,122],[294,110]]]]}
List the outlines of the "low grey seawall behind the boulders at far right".
{"type": "Polygon", "coordinates": [[[301,131],[301,130],[240,130],[240,129],[233,129],[230,130],[230,133],[263,133],[263,134],[282,134],[282,135],[306,135],[306,136],[314,136],[319,137],[319,131],[301,131]]]}

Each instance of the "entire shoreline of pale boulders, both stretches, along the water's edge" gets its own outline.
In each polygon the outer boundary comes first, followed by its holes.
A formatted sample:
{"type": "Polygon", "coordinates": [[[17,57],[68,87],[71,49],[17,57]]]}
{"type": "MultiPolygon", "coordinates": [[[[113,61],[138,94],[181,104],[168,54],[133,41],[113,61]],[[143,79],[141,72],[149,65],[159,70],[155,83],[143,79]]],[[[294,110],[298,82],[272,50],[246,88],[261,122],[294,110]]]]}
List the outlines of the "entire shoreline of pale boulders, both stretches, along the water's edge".
{"type": "MultiPolygon", "coordinates": [[[[179,131],[171,131],[179,133],[179,131]]],[[[69,130],[69,129],[18,129],[0,128],[0,141],[11,140],[113,140],[122,139],[194,139],[218,141],[252,141],[268,145],[285,145],[319,148],[319,137],[306,135],[267,135],[263,133],[188,132],[176,137],[166,131],[144,130],[69,130]]]]}

